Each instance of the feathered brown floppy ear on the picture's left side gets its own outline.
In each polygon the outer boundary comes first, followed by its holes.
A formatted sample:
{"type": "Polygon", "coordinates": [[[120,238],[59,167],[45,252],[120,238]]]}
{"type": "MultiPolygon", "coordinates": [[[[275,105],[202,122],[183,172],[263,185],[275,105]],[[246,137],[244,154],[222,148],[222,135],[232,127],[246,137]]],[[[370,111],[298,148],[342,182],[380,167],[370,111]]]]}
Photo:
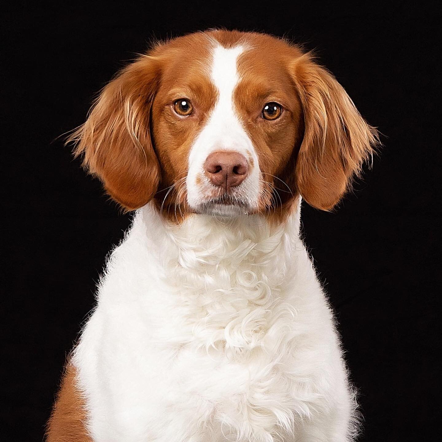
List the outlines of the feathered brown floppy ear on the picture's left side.
{"type": "Polygon", "coordinates": [[[156,192],[160,167],[150,136],[152,99],[159,81],[156,58],[143,56],[103,89],[88,120],[68,139],[75,155],[126,210],[144,206],[156,192]]]}

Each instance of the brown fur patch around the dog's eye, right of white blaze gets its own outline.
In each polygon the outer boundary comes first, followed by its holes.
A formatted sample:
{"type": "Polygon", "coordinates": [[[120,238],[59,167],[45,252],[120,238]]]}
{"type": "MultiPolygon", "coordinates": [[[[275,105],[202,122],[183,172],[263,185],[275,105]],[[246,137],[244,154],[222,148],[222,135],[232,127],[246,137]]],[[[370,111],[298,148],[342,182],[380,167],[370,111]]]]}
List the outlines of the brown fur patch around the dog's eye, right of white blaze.
{"type": "Polygon", "coordinates": [[[246,50],[238,61],[241,81],[235,91],[236,110],[259,157],[264,184],[259,212],[269,221],[280,222],[290,213],[297,196],[290,179],[301,145],[302,107],[286,64],[300,57],[301,52],[269,35],[244,37],[244,46],[252,50],[246,50]],[[284,110],[278,119],[267,121],[262,118],[262,110],[272,101],[284,110]]]}

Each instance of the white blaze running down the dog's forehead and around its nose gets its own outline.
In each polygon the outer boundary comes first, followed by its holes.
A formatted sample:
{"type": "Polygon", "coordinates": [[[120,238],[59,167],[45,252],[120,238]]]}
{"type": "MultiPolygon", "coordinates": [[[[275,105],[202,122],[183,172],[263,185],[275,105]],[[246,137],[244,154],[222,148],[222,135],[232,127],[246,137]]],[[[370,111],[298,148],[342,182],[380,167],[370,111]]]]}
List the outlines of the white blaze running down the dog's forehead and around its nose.
{"type": "MultiPolygon", "coordinates": [[[[187,174],[187,199],[191,206],[198,206],[210,194],[213,185],[197,184],[197,177],[204,175],[204,163],[211,152],[218,150],[239,152],[253,164],[258,164],[258,158],[250,137],[244,130],[235,112],[233,99],[235,88],[240,81],[237,61],[246,48],[235,46],[224,48],[215,46],[212,50],[212,66],[210,79],[217,89],[217,102],[205,127],[196,138],[189,154],[189,172],[187,174]]],[[[249,203],[255,205],[259,194],[259,168],[250,167],[249,175],[238,188],[249,203]]],[[[238,195],[240,196],[240,195],[238,195]]],[[[241,197],[242,198],[242,197],[241,197]]]]}

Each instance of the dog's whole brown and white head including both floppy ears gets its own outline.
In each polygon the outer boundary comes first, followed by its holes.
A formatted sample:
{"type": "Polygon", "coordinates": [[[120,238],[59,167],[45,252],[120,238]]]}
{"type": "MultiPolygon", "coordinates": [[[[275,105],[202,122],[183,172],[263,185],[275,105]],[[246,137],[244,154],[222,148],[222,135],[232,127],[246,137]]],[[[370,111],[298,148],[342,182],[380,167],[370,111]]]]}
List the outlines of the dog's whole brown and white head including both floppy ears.
{"type": "Polygon", "coordinates": [[[71,140],[124,208],[153,199],[179,221],[285,215],[298,194],[329,210],[377,133],[309,54],[213,30],[158,44],[123,69],[71,140]]]}

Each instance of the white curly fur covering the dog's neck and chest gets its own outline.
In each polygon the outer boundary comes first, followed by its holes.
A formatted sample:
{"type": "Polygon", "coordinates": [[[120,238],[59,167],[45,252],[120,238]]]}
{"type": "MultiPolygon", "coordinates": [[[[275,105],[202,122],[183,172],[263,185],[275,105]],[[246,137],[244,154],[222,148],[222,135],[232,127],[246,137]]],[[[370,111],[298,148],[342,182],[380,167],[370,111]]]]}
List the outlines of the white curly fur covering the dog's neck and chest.
{"type": "Polygon", "coordinates": [[[137,212],[73,362],[96,441],[350,440],[354,401],[299,212],[137,212]]]}

